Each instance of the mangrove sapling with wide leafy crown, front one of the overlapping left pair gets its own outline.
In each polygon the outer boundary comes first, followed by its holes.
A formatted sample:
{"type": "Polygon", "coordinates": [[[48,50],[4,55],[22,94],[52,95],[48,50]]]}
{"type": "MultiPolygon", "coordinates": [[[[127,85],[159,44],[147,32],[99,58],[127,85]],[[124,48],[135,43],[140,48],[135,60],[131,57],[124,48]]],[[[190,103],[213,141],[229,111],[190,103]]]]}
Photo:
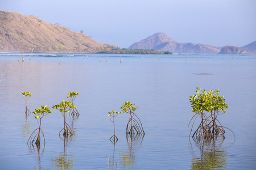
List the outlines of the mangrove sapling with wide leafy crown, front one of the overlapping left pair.
{"type": "Polygon", "coordinates": [[[60,130],[60,133],[61,131],[63,131],[64,137],[67,137],[69,134],[72,135],[73,133],[71,127],[67,124],[66,120],[68,112],[71,111],[73,108],[76,108],[76,106],[73,105],[71,101],[62,100],[60,104],[53,105],[52,108],[55,110],[59,110],[64,118],[64,128],[60,130]]]}

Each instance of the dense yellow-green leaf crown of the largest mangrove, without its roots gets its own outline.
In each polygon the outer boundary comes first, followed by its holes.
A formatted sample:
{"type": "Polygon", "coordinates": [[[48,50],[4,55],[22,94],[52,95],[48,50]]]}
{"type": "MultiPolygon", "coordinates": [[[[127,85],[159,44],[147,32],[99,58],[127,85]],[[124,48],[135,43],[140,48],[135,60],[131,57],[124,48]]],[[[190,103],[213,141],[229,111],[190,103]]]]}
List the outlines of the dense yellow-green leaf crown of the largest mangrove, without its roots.
{"type": "Polygon", "coordinates": [[[196,95],[189,96],[192,112],[212,112],[222,111],[226,113],[225,109],[228,109],[228,105],[225,103],[224,96],[220,96],[220,90],[206,92],[201,88],[196,87],[196,95]],[[201,94],[200,94],[201,92],[201,94]]]}

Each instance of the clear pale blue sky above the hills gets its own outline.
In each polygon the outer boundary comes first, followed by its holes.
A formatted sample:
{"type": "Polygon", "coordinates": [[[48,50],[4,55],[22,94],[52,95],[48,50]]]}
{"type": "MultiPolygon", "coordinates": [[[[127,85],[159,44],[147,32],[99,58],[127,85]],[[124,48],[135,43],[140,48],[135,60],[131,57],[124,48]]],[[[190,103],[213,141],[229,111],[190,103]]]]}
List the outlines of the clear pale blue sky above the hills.
{"type": "Polygon", "coordinates": [[[256,0],[0,0],[0,10],[60,23],[128,48],[157,32],[177,42],[243,46],[256,41],[256,0]]]}

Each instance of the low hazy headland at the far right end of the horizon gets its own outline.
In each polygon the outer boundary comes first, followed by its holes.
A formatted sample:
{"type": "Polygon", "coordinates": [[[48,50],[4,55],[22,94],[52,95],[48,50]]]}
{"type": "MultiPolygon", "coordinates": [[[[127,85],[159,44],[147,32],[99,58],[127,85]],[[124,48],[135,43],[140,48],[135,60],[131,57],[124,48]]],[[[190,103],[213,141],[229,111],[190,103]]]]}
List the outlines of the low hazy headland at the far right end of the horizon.
{"type": "Polygon", "coordinates": [[[238,46],[224,46],[219,54],[256,54],[256,52],[252,50],[245,50],[238,46]]]}

